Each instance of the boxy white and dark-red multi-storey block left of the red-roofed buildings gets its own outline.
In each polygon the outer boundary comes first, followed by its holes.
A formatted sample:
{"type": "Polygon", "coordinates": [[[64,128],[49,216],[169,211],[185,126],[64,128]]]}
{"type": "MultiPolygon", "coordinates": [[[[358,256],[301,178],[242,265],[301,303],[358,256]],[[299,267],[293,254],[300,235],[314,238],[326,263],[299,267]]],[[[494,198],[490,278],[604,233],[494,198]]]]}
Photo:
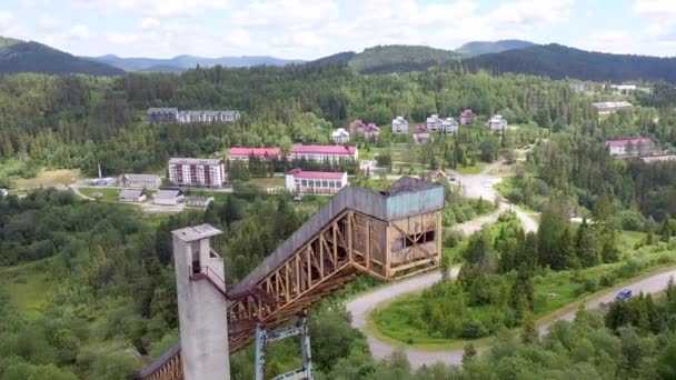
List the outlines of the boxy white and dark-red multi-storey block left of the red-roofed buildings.
{"type": "Polygon", "coordinates": [[[169,160],[169,181],[173,184],[218,188],[225,180],[223,160],[195,158],[169,160]]]}

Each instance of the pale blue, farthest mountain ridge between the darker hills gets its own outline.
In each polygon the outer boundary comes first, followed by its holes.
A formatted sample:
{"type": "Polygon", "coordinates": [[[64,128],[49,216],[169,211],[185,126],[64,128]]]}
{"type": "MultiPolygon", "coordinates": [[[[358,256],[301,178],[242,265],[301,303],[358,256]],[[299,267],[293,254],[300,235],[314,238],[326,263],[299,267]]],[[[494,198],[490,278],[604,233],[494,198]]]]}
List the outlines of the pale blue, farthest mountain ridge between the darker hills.
{"type": "Polygon", "coordinates": [[[243,68],[252,66],[286,66],[302,63],[301,60],[280,59],[275,57],[219,57],[205,58],[196,56],[177,56],[169,59],[161,58],[121,58],[113,54],[101,57],[81,57],[91,61],[106,63],[125,71],[183,71],[200,67],[220,64],[229,68],[243,68]]]}

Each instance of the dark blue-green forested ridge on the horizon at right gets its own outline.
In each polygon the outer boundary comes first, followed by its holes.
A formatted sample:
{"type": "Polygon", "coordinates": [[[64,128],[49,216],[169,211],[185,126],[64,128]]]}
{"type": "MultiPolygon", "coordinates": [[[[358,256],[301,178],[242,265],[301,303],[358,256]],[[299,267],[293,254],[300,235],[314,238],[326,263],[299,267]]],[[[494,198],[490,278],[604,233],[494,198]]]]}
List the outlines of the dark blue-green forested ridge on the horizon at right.
{"type": "Polygon", "coordinates": [[[553,79],[676,83],[676,58],[609,54],[556,43],[474,57],[464,60],[463,67],[473,71],[519,72],[553,79]]]}

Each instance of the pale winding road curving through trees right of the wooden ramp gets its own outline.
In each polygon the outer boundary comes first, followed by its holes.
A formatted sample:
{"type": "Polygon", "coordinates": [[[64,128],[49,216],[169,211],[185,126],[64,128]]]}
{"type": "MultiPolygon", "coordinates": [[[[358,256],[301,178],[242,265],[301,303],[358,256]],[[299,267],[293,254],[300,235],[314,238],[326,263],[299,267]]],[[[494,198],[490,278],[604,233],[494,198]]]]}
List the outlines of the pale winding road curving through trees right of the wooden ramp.
{"type": "MultiPolygon", "coordinates": [[[[456,229],[463,231],[465,234],[470,234],[487,223],[494,223],[499,214],[507,210],[516,212],[517,218],[520,220],[526,232],[536,231],[537,222],[527,213],[511,206],[506,200],[499,198],[499,196],[493,189],[493,186],[501,180],[499,177],[488,176],[488,172],[498,166],[500,162],[493,163],[486,167],[480,173],[475,176],[463,176],[454,172],[454,177],[463,188],[463,192],[466,197],[470,198],[483,198],[488,201],[495,201],[498,199],[498,210],[488,216],[483,216],[470,220],[468,222],[456,226],[456,229]]],[[[459,267],[455,267],[450,270],[449,277],[455,278],[458,274],[459,267]]],[[[668,270],[663,273],[654,274],[649,278],[637,280],[630,286],[624,288],[632,289],[636,294],[640,291],[644,293],[655,293],[664,289],[667,284],[669,277],[676,277],[676,269],[668,270]]],[[[367,329],[368,316],[379,304],[392,300],[397,297],[421,291],[431,287],[435,282],[441,279],[439,271],[431,271],[421,276],[412,277],[399,282],[384,286],[376,289],[375,291],[361,294],[346,304],[346,309],[352,316],[352,327],[361,330],[368,341],[371,354],[378,359],[389,358],[396,349],[401,349],[408,357],[408,361],[414,368],[421,366],[430,366],[436,362],[443,362],[446,364],[460,364],[463,361],[463,349],[449,349],[449,350],[418,350],[404,344],[392,344],[385,342],[374,337],[367,329]]],[[[613,301],[615,292],[610,291],[598,298],[588,300],[585,302],[587,309],[598,308],[602,303],[613,301]]],[[[557,320],[573,320],[575,318],[576,309],[566,311],[561,314],[556,316],[551,321],[539,326],[538,331],[540,334],[545,334],[551,323],[557,320]]]]}

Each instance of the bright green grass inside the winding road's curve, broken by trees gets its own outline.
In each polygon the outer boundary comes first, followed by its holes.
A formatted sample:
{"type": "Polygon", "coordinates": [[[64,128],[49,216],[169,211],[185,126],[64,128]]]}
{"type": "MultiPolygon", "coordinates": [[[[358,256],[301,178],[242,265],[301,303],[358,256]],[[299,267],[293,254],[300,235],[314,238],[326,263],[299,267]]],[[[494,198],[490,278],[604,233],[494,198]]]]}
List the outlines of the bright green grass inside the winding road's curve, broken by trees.
{"type": "MultiPolygon", "coordinates": [[[[666,243],[634,250],[633,247],[644,239],[645,234],[642,232],[623,232],[618,243],[624,249],[624,259],[619,262],[577,271],[544,271],[536,276],[534,313],[538,322],[550,320],[554,316],[577,307],[585,299],[616,291],[632,279],[647,277],[674,266],[676,251],[667,250],[666,243]]],[[[418,349],[461,348],[464,340],[430,336],[425,323],[410,320],[422,314],[422,307],[424,301],[419,292],[382,303],[369,316],[368,329],[380,339],[418,349]]],[[[467,308],[467,312],[478,316],[489,308],[490,306],[467,308]]],[[[489,337],[476,342],[487,340],[489,337]]]]}

